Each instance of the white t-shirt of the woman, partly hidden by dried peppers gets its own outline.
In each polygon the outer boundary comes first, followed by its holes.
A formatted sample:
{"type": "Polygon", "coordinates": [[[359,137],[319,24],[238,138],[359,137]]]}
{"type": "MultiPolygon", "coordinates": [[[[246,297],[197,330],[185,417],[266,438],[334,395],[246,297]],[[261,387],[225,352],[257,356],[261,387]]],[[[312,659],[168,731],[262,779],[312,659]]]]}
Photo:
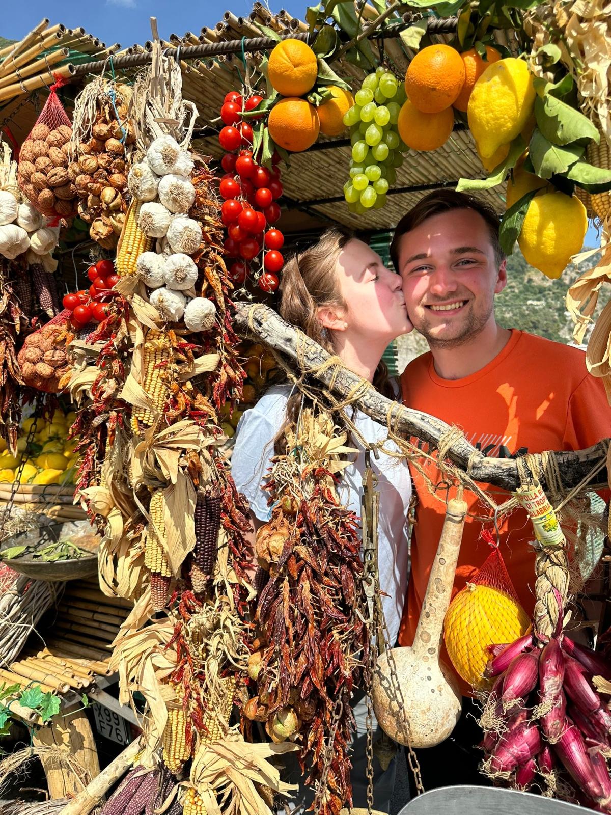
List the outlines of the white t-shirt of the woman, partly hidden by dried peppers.
{"type": "MultiPolygon", "coordinates": [[[[274,456],[274,439],[284,425],[290,385],[270,388],[255,407],[244,411],[236,430],[235,447],[231,454],[231,474],[238,491],[244,492],[250,508],[260,521],[267,521],[271,508],[267,505],[268,491],[262,490],[263,479],[268,474],[270,459],[274,456]]],[[[397,450],[387,439],[387,430],[363,412],[351,417],[354,426],[367,443],[397,450]]],[[[350,447],[359,447],[358,440],[351,439],[350,447]]],[[[382,596],[390,642],[397,639],[403,605],[407,594],[408,563],[408,509],[411,499],[411,478],[407,462],[380,452],[376,459],[371,454],[371,468],[379,479],[380,518],[378,523],[378,569],[380,588],[388,597],[382,596]]],[[[363,473],[365,454],[358,453],[354,464],[341,472],[338,493],[341,504],[361,517],[363,496],[363,473]]]]}

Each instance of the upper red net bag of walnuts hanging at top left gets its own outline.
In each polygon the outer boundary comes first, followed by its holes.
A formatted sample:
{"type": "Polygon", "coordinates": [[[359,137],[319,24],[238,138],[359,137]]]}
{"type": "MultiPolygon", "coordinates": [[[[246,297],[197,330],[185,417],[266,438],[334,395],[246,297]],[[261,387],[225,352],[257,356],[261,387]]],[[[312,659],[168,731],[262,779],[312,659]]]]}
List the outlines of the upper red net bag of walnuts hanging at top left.
{"type": "Polygon", "coordinates": [[[21,192],[49,218],[70,218],[77,214],[77,188],[73,176],[78,165],[70,163],[73,129],[57,89],[67,80],[51,86],[49,98],[19,154],[18,182],[21,192]]]}

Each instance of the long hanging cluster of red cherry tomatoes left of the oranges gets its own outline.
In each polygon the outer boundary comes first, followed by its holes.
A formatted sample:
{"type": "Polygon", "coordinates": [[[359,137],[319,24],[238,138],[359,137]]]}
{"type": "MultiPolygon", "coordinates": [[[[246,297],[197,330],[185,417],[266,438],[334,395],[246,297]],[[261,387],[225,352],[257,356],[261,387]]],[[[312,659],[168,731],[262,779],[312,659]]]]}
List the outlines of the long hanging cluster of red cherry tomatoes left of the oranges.
{"type": "Polygon", "coordinates": [[[243,99],[235,90],[225,97],[221,108],[225,127],[218,141],[227,152],[221,161],[225,174],[219,192],[223,199],[221,218],[227,227],[224,247],[231,258],[228,265],[231,280],[244,283],[256,258],[262,255],[258,284],[263,291],[275,292],[279,285],[278,272],[284,266],[279,251],[284,235],[279,229],[270,228],[281,214],[277,203],[283,192],[277,168],[280,158],[274,154],[272,170],[257,164],[250,149],[253,128],[247,121],[240,121],[242,112],[255,110],[261,102],[262,96],[243,99]]]}

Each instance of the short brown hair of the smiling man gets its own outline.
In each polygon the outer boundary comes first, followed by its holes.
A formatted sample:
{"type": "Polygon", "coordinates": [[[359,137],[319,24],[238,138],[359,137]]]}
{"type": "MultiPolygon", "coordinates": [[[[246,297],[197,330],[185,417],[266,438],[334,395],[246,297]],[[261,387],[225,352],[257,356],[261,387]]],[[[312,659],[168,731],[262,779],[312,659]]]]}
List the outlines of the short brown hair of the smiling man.
{"type": "Polygon", "coordinates": [[[397,224],[390,244],[390,258],[396,271],[401,271],[399,269],[399,244],[402,236],[406,235],[407,232],[411,232],[412,229],[420,227],[421,223],[424,223],[428,218],[433,218],[433,215],[452,212],[454,209],[473,209],[486,221],[486,226],[490,232],[490,243],[495,250],[495,258],[500,266],[505,258],[505,253],[501,249],[499,241],[499,216],[495,213],[495,210],[485,201],[475,196],[469,196],[464,192],[435,190],[429,192],[428,196],[420,198],[418,203],[403,215],[397,224]]]}

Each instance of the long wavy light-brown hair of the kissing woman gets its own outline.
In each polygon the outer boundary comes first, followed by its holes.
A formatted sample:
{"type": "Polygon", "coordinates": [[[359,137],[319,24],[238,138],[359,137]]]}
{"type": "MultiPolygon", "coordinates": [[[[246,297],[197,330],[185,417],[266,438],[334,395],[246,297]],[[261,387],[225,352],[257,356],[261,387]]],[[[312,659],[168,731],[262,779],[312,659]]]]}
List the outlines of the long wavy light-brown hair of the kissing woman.
{"type": "MultiPolygon", "coordinates": [[[[303,333],[323,346],[329,354],[336,353],[333,332],[321,324],[318,310],[321,306],[345,307],[337,280],[336,263],[341,250],[355,237],[348,230],[327,229],[317,244],[293,255],[282,275],[280,315],[288,323],[301,328],[303,333]]],[[[373,377],[373,385],[381,394],[394,399],[389,371],[381,360],[373,377]]],[[[301,393],[296,390],[287,404],[289,423],[297,422],[300,406],[301,393]]],[[[276,438],[276,447],[281,436],[282,432],[276,438]]]]}

